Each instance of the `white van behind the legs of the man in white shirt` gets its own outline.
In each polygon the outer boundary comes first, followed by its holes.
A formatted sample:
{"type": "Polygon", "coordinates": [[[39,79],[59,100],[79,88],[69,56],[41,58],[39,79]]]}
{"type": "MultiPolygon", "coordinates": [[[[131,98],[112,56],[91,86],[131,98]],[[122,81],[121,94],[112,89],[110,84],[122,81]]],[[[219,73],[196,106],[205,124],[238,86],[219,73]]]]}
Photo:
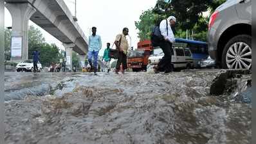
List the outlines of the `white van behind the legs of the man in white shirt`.
{"type": "MultiPolygon", "coordinates": [[[[172,47],[172,63],[174,68],[193,68],[193,58],[190,49],[184,47],[172,47]]],[[[164,54],[160,47],[154,48],[154,54],[149,56],[149,65],[157,65],[164,54]]]]}

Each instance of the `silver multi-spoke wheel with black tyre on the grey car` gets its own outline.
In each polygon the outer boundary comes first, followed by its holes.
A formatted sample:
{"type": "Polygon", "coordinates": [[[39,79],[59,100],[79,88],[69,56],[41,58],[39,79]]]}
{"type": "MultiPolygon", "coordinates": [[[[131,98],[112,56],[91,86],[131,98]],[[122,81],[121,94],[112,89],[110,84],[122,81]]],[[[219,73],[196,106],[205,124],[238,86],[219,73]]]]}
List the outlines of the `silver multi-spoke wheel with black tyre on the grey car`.
{"type": "Polygon", "coordinates": [[[251,36],[233,37],[224,47],[222,66],[228,69],[251,69],[251,36]]]}

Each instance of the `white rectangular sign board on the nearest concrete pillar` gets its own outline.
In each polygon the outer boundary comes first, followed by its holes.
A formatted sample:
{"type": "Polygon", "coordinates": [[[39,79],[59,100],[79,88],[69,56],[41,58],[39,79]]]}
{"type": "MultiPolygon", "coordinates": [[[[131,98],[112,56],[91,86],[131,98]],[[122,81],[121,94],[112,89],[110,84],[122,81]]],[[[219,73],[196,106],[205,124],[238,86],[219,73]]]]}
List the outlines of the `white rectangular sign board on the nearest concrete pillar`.
{"type": "Polygon", "coordinates": [[[11,57],[22,58],[22,49],[23,49],[23,37],[12,36],[11,57]]]}

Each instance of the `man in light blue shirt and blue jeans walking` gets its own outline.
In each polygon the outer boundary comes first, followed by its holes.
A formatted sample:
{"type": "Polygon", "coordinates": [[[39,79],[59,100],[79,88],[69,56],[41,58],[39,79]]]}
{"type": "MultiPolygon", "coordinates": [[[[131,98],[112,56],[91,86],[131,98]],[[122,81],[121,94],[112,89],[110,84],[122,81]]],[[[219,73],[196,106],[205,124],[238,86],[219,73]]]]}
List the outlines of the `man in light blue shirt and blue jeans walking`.
{"type": "Polygon", "coordinates": [[[89,65],[94,71],[94,74],[97,72],[97,65],[98,65],[98,52],[102,49],[102,40],[99,35],[96,35],[96,27],[92,28],[93,34],[89,36],[89,52],[87,54],[89,65]],[[93,63],[92,63],[92,58],[93,63]]]}

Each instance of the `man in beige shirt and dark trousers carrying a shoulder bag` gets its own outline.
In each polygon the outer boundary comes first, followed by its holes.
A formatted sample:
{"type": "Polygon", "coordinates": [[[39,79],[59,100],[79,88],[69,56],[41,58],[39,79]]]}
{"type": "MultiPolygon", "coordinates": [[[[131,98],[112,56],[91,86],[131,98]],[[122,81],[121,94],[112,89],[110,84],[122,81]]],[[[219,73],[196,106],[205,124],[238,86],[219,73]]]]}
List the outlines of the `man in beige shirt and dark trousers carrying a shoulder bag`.
{"type": "Polygon", "coordinates": [[[120,70],[120,65],[122,64],[122,74],[124,74],[125,69],[127,69],[127,51],[129,44],[126,40],[126,37],[129,33],[128,28],[123,28],[122,34],[119,34],[116,36],[116,40],[114,41],[114,44],[116,45],[116,49],[119,51],[118,61],[116,63],[116,74],[118,74],[120,70]]]}

